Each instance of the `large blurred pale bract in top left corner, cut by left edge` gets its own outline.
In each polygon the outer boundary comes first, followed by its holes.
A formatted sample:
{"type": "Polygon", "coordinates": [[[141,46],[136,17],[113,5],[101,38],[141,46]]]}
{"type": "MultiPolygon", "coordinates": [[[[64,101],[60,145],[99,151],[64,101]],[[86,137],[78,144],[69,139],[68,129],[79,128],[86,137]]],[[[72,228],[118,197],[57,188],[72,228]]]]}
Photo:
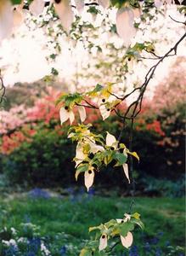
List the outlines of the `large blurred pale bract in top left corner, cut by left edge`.
{"type": "Polygon", "coordinates": [[[8,37],[13,27],[12,4],[9,0],[0,1],[0,42],[8,37]]]}

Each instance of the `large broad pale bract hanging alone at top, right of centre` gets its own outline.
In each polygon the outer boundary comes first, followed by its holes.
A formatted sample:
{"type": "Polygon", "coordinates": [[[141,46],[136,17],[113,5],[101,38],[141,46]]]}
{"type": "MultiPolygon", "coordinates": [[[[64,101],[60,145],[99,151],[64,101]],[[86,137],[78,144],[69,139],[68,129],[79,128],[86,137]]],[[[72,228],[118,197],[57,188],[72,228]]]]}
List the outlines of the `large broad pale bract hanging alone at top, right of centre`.
{"type": "Polygon", "coordinates": [[[133,26],[134,13],[131,8],[123,7],[116,14],[116,30],[123,39],[124,44],[128,46],[132,38],[136,35],[136,28],[133,26]]]}

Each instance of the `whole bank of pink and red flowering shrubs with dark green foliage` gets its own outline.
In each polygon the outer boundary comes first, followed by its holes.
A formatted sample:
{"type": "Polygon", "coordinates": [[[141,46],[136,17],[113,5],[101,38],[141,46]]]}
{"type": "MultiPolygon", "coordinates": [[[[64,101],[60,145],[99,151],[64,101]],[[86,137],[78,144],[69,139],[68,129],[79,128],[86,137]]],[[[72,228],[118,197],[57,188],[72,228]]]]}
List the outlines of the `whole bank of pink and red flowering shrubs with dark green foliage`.
{"type": "MultiPolygon", "coordinates": [[[[154,98],[144,102],[134,122],[133,148],[140,152],[139,165],[134,162],[134,168],[141,170],[141,177],[177,178],[184,172],[186,99],[183,91],[186,79],[181,67],[174,68],[172,75],[157,86],[154,98]]],[[[55,107],[58,96],[59,91],[50,88],[48,95],[37,99],[32,107],[20,105],[9,111],[0,111],[0,156],[3,155],[0,167],[14,182],[26,180],[25,171],[28,172],[28,183],[44,183],[46,179],[60,182],[66,177],[64,169],[67,166],[68,170],[74,168],[70,160],[74,156],[75,145],[67,142],[67,126],[61,127],[59,123],[59,109],[55,107]]],[[[126,108],[126,103],[122,103],[117,110],[122,112],[126,108]]],[[[105,122],[94,109],[86,108],[86,113],[86,123],[92,123],[100,134],[107,130],[116,137],[119,135],[122,123],[115,113],[105,122]]],[[[121,139],[128,145],[127,128],[121,139]]],[[[108,176],[110,173],[111,169],[108,176]]],[[[100,182],[107,183],[101,175],[100,182]]],[[[73,180],[73,177],[68,180],[73,180]]],[[[120,184],[122,178],[115,173],[115,179],[109,177],[109,180],[120,184]]]]}

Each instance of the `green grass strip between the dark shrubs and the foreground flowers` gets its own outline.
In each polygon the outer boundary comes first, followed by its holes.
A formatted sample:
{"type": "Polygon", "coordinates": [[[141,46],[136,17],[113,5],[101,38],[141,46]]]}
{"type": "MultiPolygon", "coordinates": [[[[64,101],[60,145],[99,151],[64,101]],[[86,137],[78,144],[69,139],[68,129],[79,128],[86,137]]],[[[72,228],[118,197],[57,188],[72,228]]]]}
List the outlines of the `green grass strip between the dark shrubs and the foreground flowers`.
{"type": "MultiPolygon", "coordinates": [[[[15,229],[31,221],[40,226],[41,236],[55,236],[65,232],[77,243],[88,239],[88,227],[104,223],[110,218],[122,218],[128,212],[132,199],[86,195],[74,198],[31,199],[27,196],[0,199],[0,229],[15,229]]],[[[161,243],[184,247],[184,199],[135,198],[132,212],[139,212],[145,224],[146,236],[163,232],[161,243]]],[[[141,231],[134,232],[135,244],[140,243],[141,231]]],[[[175,254],[176,255],[176,254],[175,254]]]]}

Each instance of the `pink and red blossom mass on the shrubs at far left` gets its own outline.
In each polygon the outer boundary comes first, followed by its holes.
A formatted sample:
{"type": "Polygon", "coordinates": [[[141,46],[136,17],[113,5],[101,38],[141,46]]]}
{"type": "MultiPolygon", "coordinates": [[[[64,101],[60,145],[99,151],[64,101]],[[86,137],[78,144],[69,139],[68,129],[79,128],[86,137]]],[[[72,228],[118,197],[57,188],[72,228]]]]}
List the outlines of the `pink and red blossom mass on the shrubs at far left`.
{"type": "Polygon", "coordinates": [[[31,142],[31,137],[48,125],[56,125],[59,131],[59,110],[54,102],[59,92],[48,89],[48,96],[37,100],[35,106],[20,105],[9,111],[0,111],[0,152],[11,154],[21,143],[31,142]]]}

